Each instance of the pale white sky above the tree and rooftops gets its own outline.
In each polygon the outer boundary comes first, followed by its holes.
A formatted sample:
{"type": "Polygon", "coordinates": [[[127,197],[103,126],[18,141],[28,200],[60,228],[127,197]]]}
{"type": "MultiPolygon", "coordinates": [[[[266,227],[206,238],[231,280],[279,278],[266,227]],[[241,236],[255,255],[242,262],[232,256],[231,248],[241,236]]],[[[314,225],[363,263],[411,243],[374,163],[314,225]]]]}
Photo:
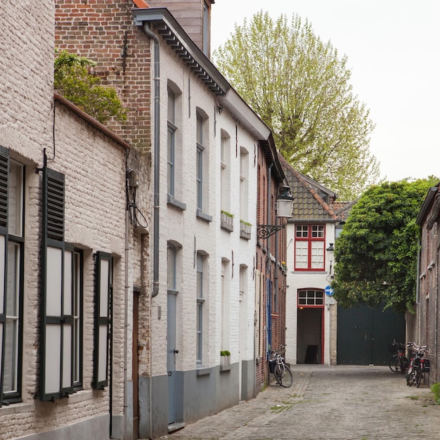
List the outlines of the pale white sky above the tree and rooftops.
{"type": "Polygon", "coordinates": [[[347,55],[353,92],[376,124],[370,152],[382,178],[440,177],[440,0],[215,0],[212,51],[261,10],[308,18],[347,55]]]}

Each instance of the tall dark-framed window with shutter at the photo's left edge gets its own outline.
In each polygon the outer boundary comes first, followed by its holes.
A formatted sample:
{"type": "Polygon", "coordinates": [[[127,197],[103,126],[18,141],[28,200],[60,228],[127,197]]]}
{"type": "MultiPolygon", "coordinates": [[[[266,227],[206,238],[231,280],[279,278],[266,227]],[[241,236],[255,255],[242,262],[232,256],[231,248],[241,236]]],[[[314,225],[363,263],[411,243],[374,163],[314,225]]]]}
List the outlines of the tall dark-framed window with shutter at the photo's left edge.
{"type": "Polygon", "coordinates": [[[0,148],[0,406],[21,401],[24,167],[0,148]]]}

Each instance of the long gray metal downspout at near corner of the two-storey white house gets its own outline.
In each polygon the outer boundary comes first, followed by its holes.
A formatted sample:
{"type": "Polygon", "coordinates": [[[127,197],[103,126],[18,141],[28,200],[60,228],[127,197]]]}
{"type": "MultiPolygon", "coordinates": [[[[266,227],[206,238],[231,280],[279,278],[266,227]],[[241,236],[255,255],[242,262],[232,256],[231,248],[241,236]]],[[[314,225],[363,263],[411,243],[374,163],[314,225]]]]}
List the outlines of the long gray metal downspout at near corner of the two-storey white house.
{"type": "MultiPolygon", "coordinates": [[[[150,29],[150,25],[143,25],[143,32],[154,41],[155,44],[155,134],[154,134],[154,213],[153,213],[153,292],[151,299],[159,293],[159,206],[160,206],[160,44],[157,35],[150,29]]],[[[151,316],[151,307],[150,307],[151,316]]],[[[151,319],[150,319],[151,325],[151,319]]],[[[151,356],[151,331],[150,333],[150,439],[153,439],[153,367],[151,356]]]]}

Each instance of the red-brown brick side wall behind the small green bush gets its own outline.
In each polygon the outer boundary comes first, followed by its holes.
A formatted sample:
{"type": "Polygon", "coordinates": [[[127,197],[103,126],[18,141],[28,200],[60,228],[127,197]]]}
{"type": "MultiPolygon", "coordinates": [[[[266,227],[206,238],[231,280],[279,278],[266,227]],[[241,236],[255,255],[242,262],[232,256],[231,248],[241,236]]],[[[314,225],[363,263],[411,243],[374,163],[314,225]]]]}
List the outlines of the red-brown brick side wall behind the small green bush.
{"type": "Polygon", "coordinates": [[[98,65],[103,84],[115,86],[127,107],[127,122],[108,126],[142,153],[151,148],[150,41],[134,27],[131,0],[55,0],[55,46],[98,65]]]}

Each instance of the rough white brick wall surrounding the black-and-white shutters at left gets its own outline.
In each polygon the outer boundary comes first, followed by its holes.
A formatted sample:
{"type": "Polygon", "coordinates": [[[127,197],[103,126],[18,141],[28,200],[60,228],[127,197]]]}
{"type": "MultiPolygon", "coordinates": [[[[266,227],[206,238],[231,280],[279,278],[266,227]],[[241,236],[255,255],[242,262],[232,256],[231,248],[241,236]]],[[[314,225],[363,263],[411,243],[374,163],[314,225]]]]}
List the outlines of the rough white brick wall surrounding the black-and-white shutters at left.
{"type": "MultiPolygon", "coordinates": [[[[107,414],[108,388],[93,392],[93,253],[115,257],[115,382],[123,383],[124,344],[124,148],[56,104],[53,131],[53,1],[0,6],[0,145],[26,165],[25,280],[22,347],[22,403],[0,408],[0,438],[45,432],[107,414]],[[65,174],[65,240],[84,249],[84,390],[54,403],[35,398],[39,382],[39,248],[41,174],[48,167],[65,174]]],[[[135,264],[136,266],[136,264],[135,264]]],[[[137,264],[138,266],[138,264],[137,264]]],[[[114,389],[115,413],[122,413],[122,387],[114,389]]],[[[108,438],[108,436],[107,436],[108,438]]]]}

